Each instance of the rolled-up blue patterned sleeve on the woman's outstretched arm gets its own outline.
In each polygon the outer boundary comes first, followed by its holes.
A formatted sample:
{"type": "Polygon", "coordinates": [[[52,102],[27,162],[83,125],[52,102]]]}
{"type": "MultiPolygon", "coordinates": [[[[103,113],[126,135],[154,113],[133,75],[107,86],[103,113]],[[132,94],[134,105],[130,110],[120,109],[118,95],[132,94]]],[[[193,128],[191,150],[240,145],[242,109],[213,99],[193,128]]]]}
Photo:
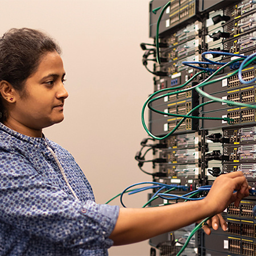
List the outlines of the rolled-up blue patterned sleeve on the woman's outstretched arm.
{"type": "Polygon", "coordinates": [[[106,249],[117,206],[74,199],[38,174],[23,156],[0,153],[0,220],[65,247],[106,249]]]}

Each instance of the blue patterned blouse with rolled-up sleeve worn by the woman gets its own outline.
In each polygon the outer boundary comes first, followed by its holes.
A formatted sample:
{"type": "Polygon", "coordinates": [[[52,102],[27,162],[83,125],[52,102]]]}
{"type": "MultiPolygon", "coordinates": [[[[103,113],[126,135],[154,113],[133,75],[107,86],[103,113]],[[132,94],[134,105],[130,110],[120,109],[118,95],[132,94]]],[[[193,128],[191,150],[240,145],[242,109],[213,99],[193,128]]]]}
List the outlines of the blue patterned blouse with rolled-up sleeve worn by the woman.
{"type": "Polygon", "coordinates": [[[108,255],[119,208],[94,202],[73,156],[0,123],[0,255],[108,255]]]}

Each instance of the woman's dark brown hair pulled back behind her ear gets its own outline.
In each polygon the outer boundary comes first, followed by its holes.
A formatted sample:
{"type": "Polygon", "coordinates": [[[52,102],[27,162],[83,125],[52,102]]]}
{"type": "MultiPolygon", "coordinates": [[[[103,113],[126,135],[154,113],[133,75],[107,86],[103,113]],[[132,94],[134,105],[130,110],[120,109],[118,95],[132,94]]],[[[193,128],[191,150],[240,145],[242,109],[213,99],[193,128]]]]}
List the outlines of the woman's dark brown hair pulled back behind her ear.
{"type": "MultiPolygon", "coordinates": [[[[0,81],[10,82],[22,92],[24,84],[38,68],[47,52],[61,53],[58,44],[44,32],[31,28],[11,28],[0,38],[0,81]]],[[[0,94],[0,122],[7,118],[0,94]]]]}

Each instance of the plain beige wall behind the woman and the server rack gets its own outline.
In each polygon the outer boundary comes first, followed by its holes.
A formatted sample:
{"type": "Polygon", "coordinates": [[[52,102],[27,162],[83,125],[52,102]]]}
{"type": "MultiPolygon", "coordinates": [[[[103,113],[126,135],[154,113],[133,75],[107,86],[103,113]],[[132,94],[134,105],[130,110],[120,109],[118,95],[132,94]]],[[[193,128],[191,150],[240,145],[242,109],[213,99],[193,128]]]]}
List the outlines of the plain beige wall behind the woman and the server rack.
{"type": "MultiPolygon", "coordinates": [[[[152,92],[142,66],[149,0],[1,0],[0,34],[11,27],[41,28],[63,48],[69,98],[65,120],[44,133],[67,148],[105,203],[127,185],[151,180],[134,160],[141,108],[152,92]]],[[[140,207],[146,195],[127,199],[140,207]]],[[[114,201],[118,204],[118,200],[114,201]]],[[[110,255],[149,255],[147,242],[113,247],[110,255]]]]}

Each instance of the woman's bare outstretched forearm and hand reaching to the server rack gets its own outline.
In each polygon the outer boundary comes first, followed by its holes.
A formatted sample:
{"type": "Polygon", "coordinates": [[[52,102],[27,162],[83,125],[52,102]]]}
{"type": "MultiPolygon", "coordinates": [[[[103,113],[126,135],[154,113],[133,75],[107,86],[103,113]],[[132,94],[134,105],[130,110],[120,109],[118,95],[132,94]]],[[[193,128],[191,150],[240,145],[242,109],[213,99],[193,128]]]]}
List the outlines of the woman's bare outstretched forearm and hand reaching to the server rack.
{"type": "Polygon", "coordinates": [[[221,175],[205,199],[163,207],[120,209],[117,224],[109,238],[114,245],[147,240],[221,213],[230,203],[238,206],[246,196],[249,196],[249,186],[242,172],[221,175]]]}

